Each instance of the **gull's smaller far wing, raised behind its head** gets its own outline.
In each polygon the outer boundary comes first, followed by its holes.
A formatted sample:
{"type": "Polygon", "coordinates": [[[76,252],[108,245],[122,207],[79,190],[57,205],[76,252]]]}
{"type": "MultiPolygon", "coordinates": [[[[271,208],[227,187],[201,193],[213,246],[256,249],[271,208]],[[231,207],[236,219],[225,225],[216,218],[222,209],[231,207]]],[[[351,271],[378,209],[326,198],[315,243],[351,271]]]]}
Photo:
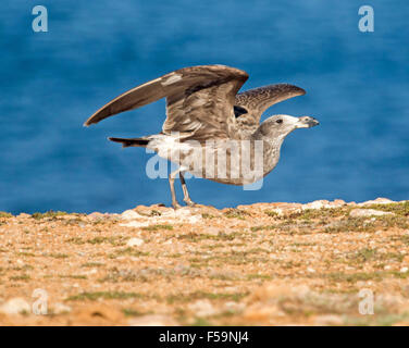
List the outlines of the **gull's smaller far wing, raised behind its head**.
{"type": "Polygon", "coordinates": [[[276,84],[246,90],[236,96],[235,114],[246,115],[247,122],[258,125],[262,113],[271,105],[283,100],[302,96],[306,91],[297,86],[276,84]]]}

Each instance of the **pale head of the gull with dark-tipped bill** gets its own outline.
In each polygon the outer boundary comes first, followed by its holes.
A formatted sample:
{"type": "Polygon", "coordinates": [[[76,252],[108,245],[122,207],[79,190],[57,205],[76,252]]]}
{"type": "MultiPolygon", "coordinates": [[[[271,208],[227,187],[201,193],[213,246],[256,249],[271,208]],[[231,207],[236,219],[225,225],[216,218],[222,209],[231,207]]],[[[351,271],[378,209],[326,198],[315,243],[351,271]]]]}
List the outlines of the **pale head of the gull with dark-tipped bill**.
{"type": "Polygon", "coordinates": [[[259,130],[263,136],[278,138],[286,136],[297,128],[311,128],[320,123],[311,116],[295,117],[289,115],[274,115],[267,119],[259,130]]]}

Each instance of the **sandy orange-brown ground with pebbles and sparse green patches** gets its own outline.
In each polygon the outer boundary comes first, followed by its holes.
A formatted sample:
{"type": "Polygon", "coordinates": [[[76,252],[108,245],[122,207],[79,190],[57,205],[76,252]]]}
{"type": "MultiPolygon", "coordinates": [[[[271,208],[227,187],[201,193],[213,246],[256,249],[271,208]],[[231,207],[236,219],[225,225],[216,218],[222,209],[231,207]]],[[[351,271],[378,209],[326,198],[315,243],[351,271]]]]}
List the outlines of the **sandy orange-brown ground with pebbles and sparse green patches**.
{"type": "Polygon", "coordinates": [[[409,202],[0,213],[0,235],[1,325],[409,324],[409,202]]]}

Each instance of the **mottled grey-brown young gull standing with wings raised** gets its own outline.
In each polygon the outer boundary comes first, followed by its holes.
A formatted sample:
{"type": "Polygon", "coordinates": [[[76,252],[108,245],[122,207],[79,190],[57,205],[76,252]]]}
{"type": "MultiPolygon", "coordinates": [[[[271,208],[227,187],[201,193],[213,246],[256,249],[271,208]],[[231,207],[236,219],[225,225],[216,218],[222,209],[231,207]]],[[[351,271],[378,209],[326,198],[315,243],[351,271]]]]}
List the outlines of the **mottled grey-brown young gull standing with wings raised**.
{"type": "Polygon", "coordinates": [[[319,124],[311,116],[283,114],[260,124],[268,108],[306,91],[297,86],[277,84],[237,94],[247,78],[246,72],[224,65],[181,69],[124,92],[99,109],[84,125],[166,98],[166,120],[161,133],[109,139],[123,147],[154,150],[160,157],[177,163],[179,167],[169,175],[172,206],[181,207],[174,189],[177,175],[184,201],[194,206],[184,172],[224,184],[255,183],[275,167],[283,140],[289,133],[319,124]],[[250,163],[245,169],[243,163],[247,156],[250,163]],[[256,158],[261,158],[261,171],[255,170],[256,158]]]}

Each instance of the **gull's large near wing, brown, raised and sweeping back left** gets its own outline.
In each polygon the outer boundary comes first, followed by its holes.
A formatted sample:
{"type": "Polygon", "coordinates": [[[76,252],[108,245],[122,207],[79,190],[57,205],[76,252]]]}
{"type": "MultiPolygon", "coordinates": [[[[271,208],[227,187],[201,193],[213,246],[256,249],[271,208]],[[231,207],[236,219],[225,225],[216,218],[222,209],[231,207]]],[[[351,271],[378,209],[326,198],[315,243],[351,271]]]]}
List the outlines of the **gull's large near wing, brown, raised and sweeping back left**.
{"type": "Polygon", "coordinates": [[[166,98],[163,133],[188,133],[197,140],[227,137],[235,127],[235,97],[247,78],[246,72],[224,65],[181,69],[119,96],[85,125],[166,98]]]}

